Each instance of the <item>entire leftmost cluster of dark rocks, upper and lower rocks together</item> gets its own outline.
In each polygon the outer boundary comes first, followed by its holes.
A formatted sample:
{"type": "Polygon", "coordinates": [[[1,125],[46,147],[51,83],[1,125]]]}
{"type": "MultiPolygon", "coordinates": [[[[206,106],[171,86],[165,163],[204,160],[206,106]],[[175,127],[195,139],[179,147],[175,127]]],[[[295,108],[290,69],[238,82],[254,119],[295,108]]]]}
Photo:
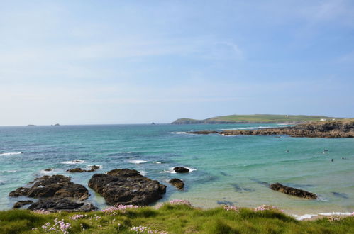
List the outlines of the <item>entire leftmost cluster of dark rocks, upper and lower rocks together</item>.
{"type": "MultiPolygon", "coordinates": [[[[69,177],[58,174],[37,178],[33,182],[28,183],[28,186],[11,191],[9,196],[28,196],[39,199],[29,209],[47,207],[51,211],[82,211],[82,206],[84,206],[84,209],[86,207],[94,209],[92,204],[80,202],[89,197],[89,191],[84,186],[74,184],[70,181],[69,177]]],[[[29,201],[24,202],[29,204],[29,201]]],[[[24,205],[24,202],[16,203],[15,205],[21,207],[24,205]]]]}

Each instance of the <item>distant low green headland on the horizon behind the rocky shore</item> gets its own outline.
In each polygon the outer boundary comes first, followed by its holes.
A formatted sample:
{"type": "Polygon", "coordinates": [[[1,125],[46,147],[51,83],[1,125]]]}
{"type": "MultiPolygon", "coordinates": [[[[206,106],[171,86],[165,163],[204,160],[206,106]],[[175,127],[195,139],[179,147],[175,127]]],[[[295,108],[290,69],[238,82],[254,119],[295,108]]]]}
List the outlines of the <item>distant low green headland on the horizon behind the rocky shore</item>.
{"type": "Polygon", "coordinates": [[[217,116],[213,118],[206,118],[204,120],[197,120],[192,118],[179,118],[173,121],[172,124],[193,124],[193,123],[304,123],[311,121],[336,120],[341,118],[328,116],[292,116],[292,115],[231,115],[231,116],[217,116]]]}

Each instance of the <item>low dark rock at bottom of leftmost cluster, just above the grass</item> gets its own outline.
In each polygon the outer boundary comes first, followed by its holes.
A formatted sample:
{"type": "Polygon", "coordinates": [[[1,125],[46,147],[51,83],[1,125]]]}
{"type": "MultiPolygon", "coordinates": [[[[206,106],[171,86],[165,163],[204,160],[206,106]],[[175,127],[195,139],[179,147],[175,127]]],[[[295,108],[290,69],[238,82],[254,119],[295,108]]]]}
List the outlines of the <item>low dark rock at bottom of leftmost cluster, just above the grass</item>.
{"type": "Polygon", "coordinates": [[[40,199],[28,207],[29,210],[46,210],[46,211],[93,211],[96,207],[92,203],[84,203],[78,201],[72,201],[65,198],[50,198],[40,199]]]}

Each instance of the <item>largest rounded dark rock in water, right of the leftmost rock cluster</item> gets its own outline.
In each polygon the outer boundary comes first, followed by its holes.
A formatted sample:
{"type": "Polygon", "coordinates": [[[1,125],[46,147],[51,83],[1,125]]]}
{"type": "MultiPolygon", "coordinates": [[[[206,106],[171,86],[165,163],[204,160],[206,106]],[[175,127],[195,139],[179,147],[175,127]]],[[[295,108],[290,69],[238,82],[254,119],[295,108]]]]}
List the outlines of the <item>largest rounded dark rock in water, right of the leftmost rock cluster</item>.
{"type": "Polygon", "coordinates": [[[166,186],[143,177],[135,169],[114,169],[106,174],[94,174],[89,187],[101,194],[109,205],[145,206],[166,192],[166,186]]]}

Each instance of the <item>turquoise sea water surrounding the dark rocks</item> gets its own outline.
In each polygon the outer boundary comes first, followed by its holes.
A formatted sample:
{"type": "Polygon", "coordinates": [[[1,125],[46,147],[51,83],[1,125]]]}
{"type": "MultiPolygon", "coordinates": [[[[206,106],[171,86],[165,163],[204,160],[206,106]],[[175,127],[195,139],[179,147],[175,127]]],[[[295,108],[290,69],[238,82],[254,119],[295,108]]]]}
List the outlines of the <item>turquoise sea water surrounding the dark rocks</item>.
{"type": "MultiPolygon", "coordinates": [[[[274,126],[279,125],[0,127],[0,209],[11,208],[18,199],[9,198],[9,192],[35,177],[65,174],[87,186],[89,178],[97,172],[69,174],[65,171],[101,165],[98,173],[115,168],[138,169],[145,176],[166,184],[167,194],[160,201],[188,199],[194,206],[204,208],[220,204],[247,207],[270,204],[299,215],[353,212],[353,138],[183,133],[274,126]],[[328,152],[323,153],[323,149],[328,152]],[[81,161],[70,164],[74,160],[81,161]],[[189,174],[171,173],[176,166],[194,170],[189,174]],[[53,171],[45,172],[47,168],[53,171]],[[174,177],[184,180],[184,191],[167,184],[174,177]],[[310,201],[287,196],[272,191],[265,182],[305,189],[318,194],[320,199],[310,201]]],[[[89,190],[90,201],[103,208],[104,200],[89,190]]]]}

